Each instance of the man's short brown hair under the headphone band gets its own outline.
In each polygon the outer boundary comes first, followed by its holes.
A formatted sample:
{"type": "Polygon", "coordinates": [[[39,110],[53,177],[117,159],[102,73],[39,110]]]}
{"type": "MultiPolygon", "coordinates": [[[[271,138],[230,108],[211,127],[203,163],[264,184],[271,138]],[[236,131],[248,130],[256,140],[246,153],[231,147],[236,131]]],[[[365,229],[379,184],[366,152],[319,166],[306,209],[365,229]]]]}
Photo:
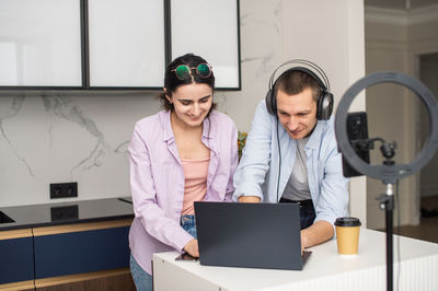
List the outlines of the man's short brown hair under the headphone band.
{"type": "Polygon", "coordinates": [[[307,72],[289,69],[275,82],[274,92],[277,94],[278,90],[281,90],[288,95],[295,95],[308,88],[312,90],[313,100],[318,103],[322,93],[318,81],[307,72]]]}

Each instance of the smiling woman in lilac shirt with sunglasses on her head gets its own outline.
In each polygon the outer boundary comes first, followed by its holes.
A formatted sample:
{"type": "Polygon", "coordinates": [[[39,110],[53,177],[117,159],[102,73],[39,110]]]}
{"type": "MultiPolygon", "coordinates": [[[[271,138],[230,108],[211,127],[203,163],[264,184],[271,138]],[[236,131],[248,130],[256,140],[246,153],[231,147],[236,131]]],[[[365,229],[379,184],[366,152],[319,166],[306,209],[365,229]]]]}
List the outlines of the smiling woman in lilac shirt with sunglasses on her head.
{"type": "Polygon", "coordinates": [[[194,201],[231,201],[238,132],[215,110],[215,75],[203,58],[172,61],[159,95],[164,110],[136,124],[129,144],[135,219],[130,268],[137,290],[152,290],[153,253],[199,256],[194,201]]]}

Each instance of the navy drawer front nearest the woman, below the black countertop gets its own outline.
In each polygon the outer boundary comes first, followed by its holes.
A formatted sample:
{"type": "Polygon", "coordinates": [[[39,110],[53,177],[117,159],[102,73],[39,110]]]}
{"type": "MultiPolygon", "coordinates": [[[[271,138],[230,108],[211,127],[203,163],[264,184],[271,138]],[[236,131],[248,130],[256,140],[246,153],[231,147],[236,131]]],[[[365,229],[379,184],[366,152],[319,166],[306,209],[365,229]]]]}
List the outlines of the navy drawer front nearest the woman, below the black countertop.
{"type": "Polygon", "coordinates": [[[129,267],[129,226],[35,236],[35,279],[129,267]]]}

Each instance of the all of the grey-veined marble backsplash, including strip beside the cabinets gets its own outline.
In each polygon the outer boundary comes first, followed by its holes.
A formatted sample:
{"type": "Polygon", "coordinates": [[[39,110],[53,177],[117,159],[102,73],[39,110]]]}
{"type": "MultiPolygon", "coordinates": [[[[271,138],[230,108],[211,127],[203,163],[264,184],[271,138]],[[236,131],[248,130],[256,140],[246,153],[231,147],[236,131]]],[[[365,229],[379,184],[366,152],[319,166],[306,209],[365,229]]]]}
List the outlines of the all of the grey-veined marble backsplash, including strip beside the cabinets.
{"type": "MultiPolygon", "coordinates": [[[[255,2],[240,1],[242,90],[215,93],[240,130],[281,61],[283,1],[255,2]]],[[[160,109],[154,95],[0,92],[0,207],[129,196],[128,142],[135,123],[160,109]],[[78,182],[78,198],[50,200],[49,184],[66,182],[78,182]]]]}

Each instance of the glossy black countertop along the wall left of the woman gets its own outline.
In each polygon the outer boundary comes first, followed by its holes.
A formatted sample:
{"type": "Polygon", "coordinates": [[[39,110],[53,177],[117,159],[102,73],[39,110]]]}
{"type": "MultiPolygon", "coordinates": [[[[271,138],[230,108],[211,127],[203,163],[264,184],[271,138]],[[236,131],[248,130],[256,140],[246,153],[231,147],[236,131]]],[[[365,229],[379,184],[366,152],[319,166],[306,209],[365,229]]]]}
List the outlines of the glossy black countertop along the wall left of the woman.
{"type": "Polygon", "coordinates": [[[130,197],[4,207],[0,231],[128,218],[134,218],[130,197]]]}

